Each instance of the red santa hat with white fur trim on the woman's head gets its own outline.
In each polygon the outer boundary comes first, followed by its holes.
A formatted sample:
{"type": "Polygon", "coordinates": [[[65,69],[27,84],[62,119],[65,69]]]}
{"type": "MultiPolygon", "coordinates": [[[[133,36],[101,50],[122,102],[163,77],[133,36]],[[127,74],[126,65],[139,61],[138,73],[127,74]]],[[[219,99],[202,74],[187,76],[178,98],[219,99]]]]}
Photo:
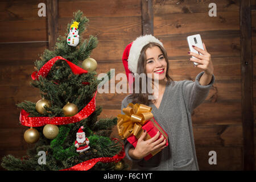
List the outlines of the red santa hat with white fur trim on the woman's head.
{"type": "Polygon", "coordinates": [[[139,36],[132,43],[128,44],[123,52],[123,65],[125,67],[126,76],[129,79],[129,73],[137,73],[139,55],[141,55],[141,50],[148,43],[158,43],[163,47],[163,43],[156,39],[152,35],[139,36]]]}

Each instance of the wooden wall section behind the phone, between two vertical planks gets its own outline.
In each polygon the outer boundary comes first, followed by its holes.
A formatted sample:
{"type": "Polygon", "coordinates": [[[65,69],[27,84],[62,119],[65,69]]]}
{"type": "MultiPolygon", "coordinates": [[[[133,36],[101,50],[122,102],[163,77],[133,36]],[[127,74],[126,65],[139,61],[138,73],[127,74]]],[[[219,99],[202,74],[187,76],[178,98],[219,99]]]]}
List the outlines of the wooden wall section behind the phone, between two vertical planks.
{"type": "Polygon", "coordinates": [[[154,34],[167,47],[172,77],[194,80],[201,71],[187,56],[188,35],[200,34],[212,55],[216,82],[209,96],[192,114],[200,169],[242,169],[241,57],[239,5],[227,1],[155,1],[154,34]],[[208,5],[217,5],[217,16],[208,5]],[[209,151],[217,165],[209,165],[209,151]]]}

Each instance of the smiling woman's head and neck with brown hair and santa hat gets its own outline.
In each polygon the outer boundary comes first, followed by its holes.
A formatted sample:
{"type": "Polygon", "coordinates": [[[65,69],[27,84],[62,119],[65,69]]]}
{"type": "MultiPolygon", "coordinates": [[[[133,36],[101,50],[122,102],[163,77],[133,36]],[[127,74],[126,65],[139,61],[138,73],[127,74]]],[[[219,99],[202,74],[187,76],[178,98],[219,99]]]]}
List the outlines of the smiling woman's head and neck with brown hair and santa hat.
{"type": "MultiPolygon", "coordinates": [[[[158,96],[161,97],[161,93],[163,93],[166,84],[169,85],[173,81],[168,73],[168,56],[166,50],[163,48],[163,44],[152,35],[142,36],[139,41],[134,41],[126,47],[125,52],[123,53],[123,64],[126,69],[126,76],[128,78],[129,85],[133,84],[133,86],[131,86],[131,88],[133,88],[133,92],[130,95],[130,98],[133,99],[133,103],[148,105],[152,102],[159,105],[157,102],[158,99],[149,99],[154,98],[150,96],[154,96],[155,93],[158,93],[158,96]],[[154,86],[154,92],[143,93],[142,77],[139,77],[141,78],[141,80],[139,80],[140,92],[136,92],[135,89],[137,88],[138,83],[132,81],[128,76],[129,73],[137,73],[138,76],[142,76],[142,74],[145,73],[148,77],[151,77],[152,75],[152,86],[154,86]],[[156,85],[154,85],[155,78],[158,79],[158,84],[156,85]]],[[[147,85],[150,84],[151,83],[147,82],[147,85]]]]}

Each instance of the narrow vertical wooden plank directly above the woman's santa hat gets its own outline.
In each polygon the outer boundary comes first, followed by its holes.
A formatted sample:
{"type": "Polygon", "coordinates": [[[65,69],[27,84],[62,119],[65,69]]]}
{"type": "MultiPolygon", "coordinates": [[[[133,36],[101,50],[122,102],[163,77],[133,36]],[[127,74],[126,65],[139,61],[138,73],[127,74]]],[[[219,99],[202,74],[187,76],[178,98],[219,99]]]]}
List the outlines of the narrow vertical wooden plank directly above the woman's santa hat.
{"type": "Polygon", "coordinates": [[[152,0],[141,1],[142,35],[154,35],[154,14],[152,0]]]}

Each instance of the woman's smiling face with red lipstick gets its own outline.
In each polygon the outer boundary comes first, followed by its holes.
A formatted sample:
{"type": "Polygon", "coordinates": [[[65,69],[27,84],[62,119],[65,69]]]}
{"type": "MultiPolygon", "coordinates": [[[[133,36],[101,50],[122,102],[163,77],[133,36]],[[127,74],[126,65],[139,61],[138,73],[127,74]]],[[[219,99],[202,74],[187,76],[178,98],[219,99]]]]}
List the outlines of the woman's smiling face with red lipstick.
{"type": "Polygon", "coordinates": [[[166,78],[167,63],[163,52],[158,46],[147,48],[146,51],[146,73],[152,73],[153,79],[156,75],[158,80],[166,78]]]}

